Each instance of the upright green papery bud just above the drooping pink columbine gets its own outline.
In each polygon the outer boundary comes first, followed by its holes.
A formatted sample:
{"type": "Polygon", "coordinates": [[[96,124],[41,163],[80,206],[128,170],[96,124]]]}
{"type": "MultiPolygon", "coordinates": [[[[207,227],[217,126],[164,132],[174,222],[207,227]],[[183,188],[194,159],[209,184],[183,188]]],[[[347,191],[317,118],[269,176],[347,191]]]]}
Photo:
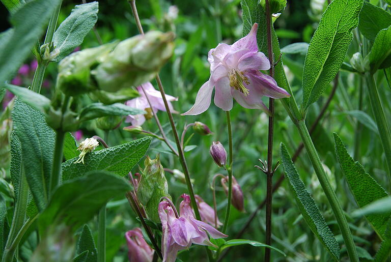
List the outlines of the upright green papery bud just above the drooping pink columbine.
{"type": "Polygon", "coordinates": [[[159,223],[158,206],[163,196],[170,197],[169,186],[164,176],[163,166],[160,164],[159,155],[156,159],[148,156],[145,168],[137,186],[137,197],[142,203],[150,220],[159,223]]]}

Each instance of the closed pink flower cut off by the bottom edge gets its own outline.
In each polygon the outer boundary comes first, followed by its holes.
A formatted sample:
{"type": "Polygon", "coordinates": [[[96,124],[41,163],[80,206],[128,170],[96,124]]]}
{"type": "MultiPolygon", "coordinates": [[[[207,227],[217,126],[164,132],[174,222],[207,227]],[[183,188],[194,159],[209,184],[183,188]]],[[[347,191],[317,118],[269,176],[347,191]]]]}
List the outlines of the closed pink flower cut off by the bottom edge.
{"type": "Polygon", "coordinates": [[[125,233],[128,244],[129,261],[131,262],[151,262],[154,250],[147,244],[143,237],[141,228],[136,227],[125,233]]]}

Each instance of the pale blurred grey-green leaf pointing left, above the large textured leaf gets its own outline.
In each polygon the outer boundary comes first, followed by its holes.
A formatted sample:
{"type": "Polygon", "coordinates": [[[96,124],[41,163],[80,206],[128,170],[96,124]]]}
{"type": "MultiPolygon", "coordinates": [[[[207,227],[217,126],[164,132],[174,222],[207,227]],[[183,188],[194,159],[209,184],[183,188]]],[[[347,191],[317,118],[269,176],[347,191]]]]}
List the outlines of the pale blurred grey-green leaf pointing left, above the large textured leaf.
{"type": "Polygon", "coordinates": [[[50,106],[50,100],[30,89],[21,88],[13,84],[5,84],[5,87],[17,96],[21,101],[38,111],[44,112],[50,106]]]}

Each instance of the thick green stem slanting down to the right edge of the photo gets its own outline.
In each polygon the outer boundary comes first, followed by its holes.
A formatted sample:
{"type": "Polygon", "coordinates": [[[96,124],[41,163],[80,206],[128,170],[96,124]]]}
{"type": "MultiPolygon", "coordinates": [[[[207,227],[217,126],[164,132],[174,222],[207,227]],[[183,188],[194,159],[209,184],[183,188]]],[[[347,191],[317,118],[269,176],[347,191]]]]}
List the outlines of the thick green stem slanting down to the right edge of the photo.
{"type": "Polygon", "coordinates": [[[365,79],[367,82],[369,98],[371,101],[371,107],[373,114],[375,115],[375,120],[377,124],[377,129],[379,130],[381,144],[383,146],[385,154],[385,162],[388,168],[388,179],[391,182],[391,133],[385,118],[385,113],[381,100],[379,97],[379,92],[375,83],[375,79],[372,74],[369,72],[365,73],[365,79]]]}

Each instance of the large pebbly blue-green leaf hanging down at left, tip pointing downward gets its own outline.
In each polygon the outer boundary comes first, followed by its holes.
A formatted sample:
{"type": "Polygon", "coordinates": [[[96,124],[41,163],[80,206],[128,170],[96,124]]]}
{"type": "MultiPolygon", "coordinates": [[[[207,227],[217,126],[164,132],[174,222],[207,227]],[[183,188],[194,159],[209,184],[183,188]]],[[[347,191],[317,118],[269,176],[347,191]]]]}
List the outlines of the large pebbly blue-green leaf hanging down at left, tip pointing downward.
{"type": "Polygon", "coordinates": [[[12,110],[14,133],[22,147],[23,169],[34,200],[41,211],[48,198],[54,152],[54,131],[46,125],[42,113],[15,100],[12,110]]]}

